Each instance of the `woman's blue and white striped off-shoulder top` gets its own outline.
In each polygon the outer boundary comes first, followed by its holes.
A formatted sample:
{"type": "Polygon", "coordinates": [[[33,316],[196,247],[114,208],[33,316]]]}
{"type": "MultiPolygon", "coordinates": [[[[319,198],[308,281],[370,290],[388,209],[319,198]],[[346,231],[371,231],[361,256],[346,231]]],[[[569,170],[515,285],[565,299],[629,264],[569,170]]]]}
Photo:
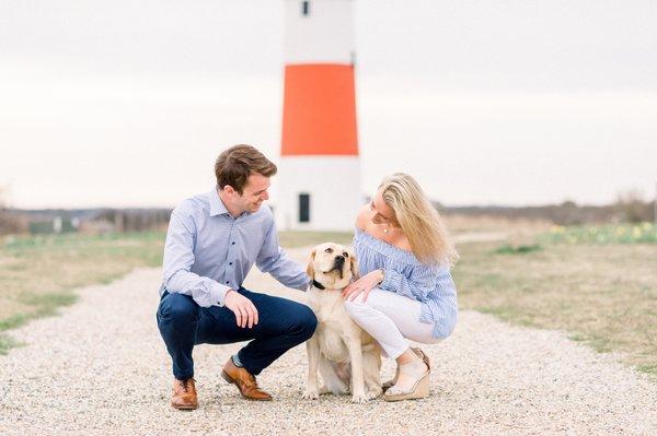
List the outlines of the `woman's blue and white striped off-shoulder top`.
{"type": "Polygon", "coordinates": [[[445,339],[454,329],[459,306],[449,266],[422,263],[411,252],[356,228],[354,249],[360,275],[383,270],[379,287],[418,301],[419,320],[434,323],[434,338],[445,339]]]}

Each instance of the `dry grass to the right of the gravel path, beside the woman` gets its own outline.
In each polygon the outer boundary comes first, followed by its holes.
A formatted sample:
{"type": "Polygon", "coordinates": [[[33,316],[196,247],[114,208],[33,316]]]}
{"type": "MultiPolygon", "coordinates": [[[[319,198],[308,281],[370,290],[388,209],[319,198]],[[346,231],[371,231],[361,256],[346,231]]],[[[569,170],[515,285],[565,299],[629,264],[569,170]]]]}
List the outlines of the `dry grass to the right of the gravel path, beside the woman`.
{"type": "Polygon", "coordinates": [[[461,307],[566,330],[657,377],[657,245],[460,246],[461,307]],[[500,249],[502,248],[502,249],[500,249]]]}

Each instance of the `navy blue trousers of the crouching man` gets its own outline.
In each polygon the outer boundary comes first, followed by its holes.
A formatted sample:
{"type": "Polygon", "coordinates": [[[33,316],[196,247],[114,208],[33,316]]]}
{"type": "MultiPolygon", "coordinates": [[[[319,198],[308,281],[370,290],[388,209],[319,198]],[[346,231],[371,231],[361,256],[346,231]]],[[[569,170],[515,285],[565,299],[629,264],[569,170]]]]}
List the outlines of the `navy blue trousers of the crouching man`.
{"type": "Polygon", "coordinates": [[[192,350],[201,343],[226,344],[249,341],[238,353],[244,368],[258,375],[289,349],[314,333],[318,319],[300,303],[240,287],[253,302],[258,322],[253,328],[237,325],[228,307],[200,307],[188,295],[164,292],[158,308],[158,328],[173,360],[173,375],[178,380],[194,376],[192,350]]]}

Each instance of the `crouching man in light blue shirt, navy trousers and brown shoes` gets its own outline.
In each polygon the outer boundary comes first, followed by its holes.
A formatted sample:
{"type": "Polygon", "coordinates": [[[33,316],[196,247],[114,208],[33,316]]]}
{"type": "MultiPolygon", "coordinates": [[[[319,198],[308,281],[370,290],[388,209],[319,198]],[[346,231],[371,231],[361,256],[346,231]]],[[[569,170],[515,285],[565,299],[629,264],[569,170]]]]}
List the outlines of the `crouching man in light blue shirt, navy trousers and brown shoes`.
{"type": "Polygon", "coordinates": [[[309,285],[308,274],[278,246],[272,211],[262,207],[276,170],[253,146],[235,145],[217,158],[216,188],[171,214],[157,318],[173,360],[176,409],[198,406],[194,345],[252,340],[228,360],[221,376],[250,400],[270,400],[255,376],[315,330],[307,306],[242,287],[253,263],[285,286],[309,285]]]}

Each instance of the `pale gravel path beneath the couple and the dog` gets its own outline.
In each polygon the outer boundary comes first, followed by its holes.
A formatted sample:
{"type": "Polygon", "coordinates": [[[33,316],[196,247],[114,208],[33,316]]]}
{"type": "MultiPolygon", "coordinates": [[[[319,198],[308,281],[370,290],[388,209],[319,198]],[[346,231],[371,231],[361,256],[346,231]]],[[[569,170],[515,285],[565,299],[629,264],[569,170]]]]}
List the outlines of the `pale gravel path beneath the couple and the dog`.
{"type": "MultiPolygon", "coordinates": [[[[291,250],[302,259],[308,250],[291,250]]],[[[270,278],[246,287],[302,298],[270,278]]],[[[249,402],[219,376],[238,344],[195,349],[198,410],[170,408],[171,361],[155,326],[160,271],[80,290],[62,316],[11,334],[0,356],[0,435],[657,434],[657,384],[556,331],[462,311],[452,337],[423,346],[435,370],[419,401],[301,399],[303,346],[260,377],[275,401],[249,402]]],[[[384,363],[383,379],[393,373],[384,363]]]]}

